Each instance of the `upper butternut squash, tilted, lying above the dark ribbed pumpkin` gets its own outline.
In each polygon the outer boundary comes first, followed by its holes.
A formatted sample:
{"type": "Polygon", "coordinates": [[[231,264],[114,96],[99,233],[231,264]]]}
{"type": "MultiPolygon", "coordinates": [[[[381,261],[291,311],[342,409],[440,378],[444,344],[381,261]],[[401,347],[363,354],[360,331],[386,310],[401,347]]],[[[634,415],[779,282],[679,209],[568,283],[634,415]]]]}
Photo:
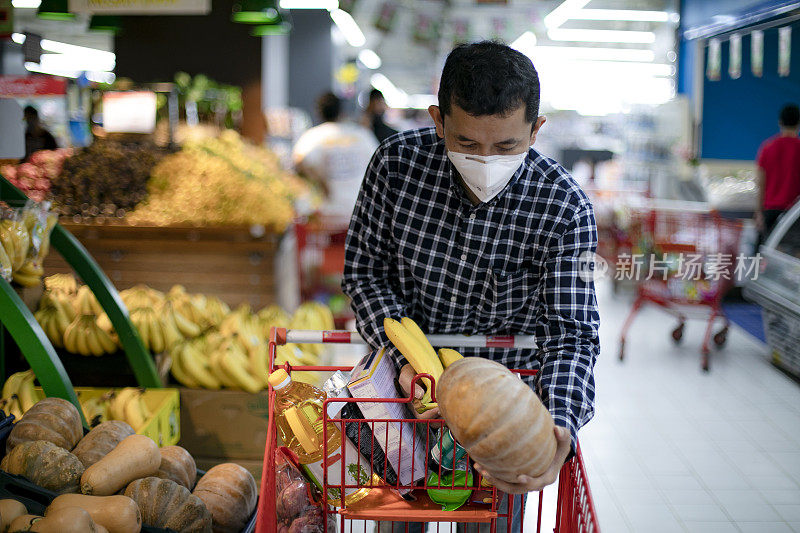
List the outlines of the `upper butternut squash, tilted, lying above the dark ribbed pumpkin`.
{"type": "Polygon", "coordinates": [[[152,476],[161,466],[161,452],[153,439],[144,435],[125,437],[108,455],[86,469],[81,492],[110,496],[136,479],[152,476]]]}

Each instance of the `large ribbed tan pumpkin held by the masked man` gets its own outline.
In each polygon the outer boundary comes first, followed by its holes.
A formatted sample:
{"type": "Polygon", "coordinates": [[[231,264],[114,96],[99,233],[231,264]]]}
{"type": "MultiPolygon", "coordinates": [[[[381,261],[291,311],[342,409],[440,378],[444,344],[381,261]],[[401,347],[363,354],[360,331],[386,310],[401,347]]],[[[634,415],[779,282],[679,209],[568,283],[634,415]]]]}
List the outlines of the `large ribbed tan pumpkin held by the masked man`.
{"type": "Polygon", "coordinates": [[[556,453],[553,417],[536,393],[505,366],[465,357],[436,384],[439,410],[472,459],[498,479],[539,476],[556,453]]]}

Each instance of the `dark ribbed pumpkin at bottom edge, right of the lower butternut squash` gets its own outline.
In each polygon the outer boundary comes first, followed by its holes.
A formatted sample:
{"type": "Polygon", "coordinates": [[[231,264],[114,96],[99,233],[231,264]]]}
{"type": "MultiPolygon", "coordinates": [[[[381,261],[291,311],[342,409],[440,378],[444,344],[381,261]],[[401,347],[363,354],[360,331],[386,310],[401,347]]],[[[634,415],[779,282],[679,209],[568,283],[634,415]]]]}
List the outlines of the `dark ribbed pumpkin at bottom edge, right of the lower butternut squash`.
{"type": "Polygon", "coordinates": [[[125,496],[139,506],[142,522],[178,533],[211,533],[211,513],[203,501],[170,479],[137,479],[125,496]]]}

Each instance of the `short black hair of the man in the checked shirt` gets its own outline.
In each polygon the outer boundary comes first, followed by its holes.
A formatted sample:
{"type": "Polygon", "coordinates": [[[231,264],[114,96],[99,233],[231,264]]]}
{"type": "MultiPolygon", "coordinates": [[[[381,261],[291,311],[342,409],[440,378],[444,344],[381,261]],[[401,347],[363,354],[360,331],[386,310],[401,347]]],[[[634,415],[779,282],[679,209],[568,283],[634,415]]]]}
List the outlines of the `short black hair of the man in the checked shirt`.
{"type": "Polygon", "coordinates": [[[507,115],[525,106],[525,120],[539,116],[539,75],[524,54],[495,41],[462,44],[447,56],[439,83],[439,109],[457,105],[473,116],[507,115]]]}

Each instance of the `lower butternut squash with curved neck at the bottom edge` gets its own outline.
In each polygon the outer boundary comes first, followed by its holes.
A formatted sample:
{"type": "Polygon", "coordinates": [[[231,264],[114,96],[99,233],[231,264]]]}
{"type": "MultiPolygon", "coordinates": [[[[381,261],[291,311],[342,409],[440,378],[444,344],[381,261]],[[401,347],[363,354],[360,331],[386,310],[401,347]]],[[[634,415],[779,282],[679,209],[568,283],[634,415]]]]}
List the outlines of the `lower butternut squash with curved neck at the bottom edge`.
{"type": "Polygon", "coordinates": [[[95,524],[103,526],[109,533],[139,533],[142,530],[139,506],[127,496],[62,494],[53,500],[45,516],[64,507],[80,507],[91,515],[95,524]]]}

